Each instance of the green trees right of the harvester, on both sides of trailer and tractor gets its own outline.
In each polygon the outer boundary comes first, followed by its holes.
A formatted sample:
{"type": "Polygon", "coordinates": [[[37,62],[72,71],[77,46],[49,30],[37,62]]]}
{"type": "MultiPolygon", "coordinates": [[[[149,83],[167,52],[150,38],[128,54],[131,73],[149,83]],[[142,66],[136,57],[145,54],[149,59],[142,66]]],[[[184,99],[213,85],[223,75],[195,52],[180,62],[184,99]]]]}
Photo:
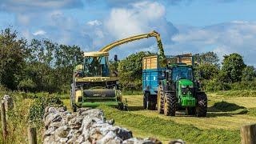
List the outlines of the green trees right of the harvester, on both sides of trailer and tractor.
{"type": "MultiPolygon", "coordinates": [[[[118,63],[119,81],[125,90],[142,90],[142,58],[150,52],[130,54],[118,63]]],[[[222,62],[214,52],[194,54],[194,74],[204,90],[256,90],[254,66],[246,66],[240,54],[224,55],[222,62]]]]}

